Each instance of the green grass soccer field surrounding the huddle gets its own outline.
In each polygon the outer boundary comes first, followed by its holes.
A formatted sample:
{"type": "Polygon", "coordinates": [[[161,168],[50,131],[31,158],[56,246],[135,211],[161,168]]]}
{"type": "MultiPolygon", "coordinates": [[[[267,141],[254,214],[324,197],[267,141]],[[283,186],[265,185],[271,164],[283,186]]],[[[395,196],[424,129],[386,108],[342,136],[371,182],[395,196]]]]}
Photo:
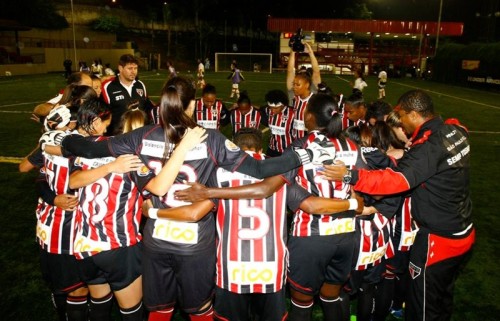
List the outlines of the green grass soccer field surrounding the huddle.
{"type": "MultiPolygon", "coordinates": [[[[264,103],[268,90],[285,89],[284,73],[244,76],[247,80],[240,88],[248,91],[257,106],[264,103]]],[[[141,72],[140,77],[149,96],[157,101],[166,72],[141,72]]],[[[231,83],[226,77],[227,74],[209,72],[206,80],[217,87],[218,96],[229,104],[234,101],[229,99],[231,83]]],[[[352,76],[323,78],[334,91],[350,93],[352,76]]],[[[367,82],[365,97],[371,101],[377,97],[376,79],[369,77],[367,82]]],[[[40,125],[30,120],[30,112],[64,85],[61,74],[0,77],[0,313],[5,320],[54,320],[49,291],[41,281],[35,244],[36,173],[19,173],[16,158],[27,155],[40,135],[40,125]]],[[[477,243],[472,260],[456,284],[453,320],[498,320],[500,277],[496,260],[500,223],[495,219],[495,200],[500,186],[500,94],[416,79],[389,79],[387,101],[394,105],[402,93],[413,88],[427,90],[439,114],[458,118],[471,131],[471,190],[477,243]]],[[[319,311],[315,320],[321,320],[319,311]]]]}

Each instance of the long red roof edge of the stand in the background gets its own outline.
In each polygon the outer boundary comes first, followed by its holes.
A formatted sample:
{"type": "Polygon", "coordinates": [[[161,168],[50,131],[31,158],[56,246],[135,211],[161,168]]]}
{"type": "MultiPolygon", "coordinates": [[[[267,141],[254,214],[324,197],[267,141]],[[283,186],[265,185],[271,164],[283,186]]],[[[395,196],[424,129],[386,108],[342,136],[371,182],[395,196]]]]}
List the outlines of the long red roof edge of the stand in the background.
{"type": "MultiPolygon", "coordinates": [[[[352,33],[437,33],[437,22],[398,21],[398,20],[345,20],[345,19],[267,19],[267,30],[271,32],[295,32],[298,28],[315,32],[352,32],[352,33]]],[[[464,31],[462,22],[441,22],[439,34],[442,36],[461,36],[464,31]]]]}

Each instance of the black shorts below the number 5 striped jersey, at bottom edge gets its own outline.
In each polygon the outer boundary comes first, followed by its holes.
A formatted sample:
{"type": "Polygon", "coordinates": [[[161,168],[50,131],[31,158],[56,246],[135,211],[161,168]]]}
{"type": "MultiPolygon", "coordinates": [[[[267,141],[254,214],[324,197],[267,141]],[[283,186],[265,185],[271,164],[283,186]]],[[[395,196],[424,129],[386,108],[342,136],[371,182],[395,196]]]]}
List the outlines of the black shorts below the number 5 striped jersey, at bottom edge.
{"type": "Polygon", "coordinates": [[[214,319],[239,321],[285,320],[285,288],[274,293],[240,294],[215,288],[214,319]]]}

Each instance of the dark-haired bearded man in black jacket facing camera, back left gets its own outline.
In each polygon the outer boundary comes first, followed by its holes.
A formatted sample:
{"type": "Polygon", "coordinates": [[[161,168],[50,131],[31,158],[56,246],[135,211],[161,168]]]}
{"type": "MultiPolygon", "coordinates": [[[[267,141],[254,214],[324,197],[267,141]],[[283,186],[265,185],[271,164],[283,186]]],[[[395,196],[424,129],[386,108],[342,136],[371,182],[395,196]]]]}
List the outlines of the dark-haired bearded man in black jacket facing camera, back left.
{"type": "Polygon", "coordinates": [[[131,54],[125,54],[118,61],[118,76],[108,79],[103,84],[102,98],[110,106],[113,117],[106,135],[115,135],[122,130],[119,128],[122,114],[127,106],[134,101],[139,102],[139,108],[150,114],[154,108],[149,100],[146,85],[137,80],[139,61],[131,54]]]}

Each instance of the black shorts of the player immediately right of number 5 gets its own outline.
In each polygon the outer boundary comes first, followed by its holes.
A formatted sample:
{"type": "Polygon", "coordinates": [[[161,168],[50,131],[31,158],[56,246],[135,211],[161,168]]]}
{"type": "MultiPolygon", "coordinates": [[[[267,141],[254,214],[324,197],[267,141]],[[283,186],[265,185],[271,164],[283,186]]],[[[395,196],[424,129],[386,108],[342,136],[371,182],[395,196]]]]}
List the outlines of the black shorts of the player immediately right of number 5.
{"type": "Polygon", "coordinates": [[[347,281],[351,272],[355,234],[290,237],[290,287],[306,295],[316,295],[323,283],[341,285],[347,281]]]}

